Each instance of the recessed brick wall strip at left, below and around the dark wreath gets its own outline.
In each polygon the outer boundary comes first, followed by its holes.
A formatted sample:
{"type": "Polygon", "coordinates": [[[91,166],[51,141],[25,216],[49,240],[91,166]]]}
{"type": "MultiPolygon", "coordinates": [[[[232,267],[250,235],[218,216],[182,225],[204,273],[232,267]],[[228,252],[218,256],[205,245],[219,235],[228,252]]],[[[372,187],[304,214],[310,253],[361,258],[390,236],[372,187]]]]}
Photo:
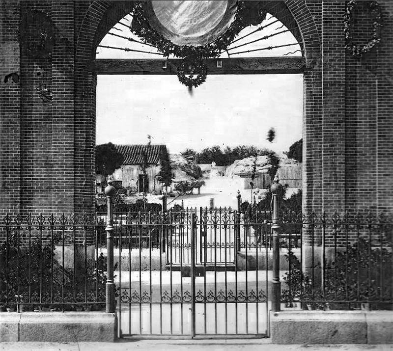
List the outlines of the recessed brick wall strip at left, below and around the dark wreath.
{"type": "Polygon", "coordinates": [[[52,210],[52,105],[39,96],[40,88],[52,91],[50,56],[29,51],[40,45],[36,16],[51,18],[51,1],[22,1],[21,26],[21,211],[47,213],[52,210]]]}

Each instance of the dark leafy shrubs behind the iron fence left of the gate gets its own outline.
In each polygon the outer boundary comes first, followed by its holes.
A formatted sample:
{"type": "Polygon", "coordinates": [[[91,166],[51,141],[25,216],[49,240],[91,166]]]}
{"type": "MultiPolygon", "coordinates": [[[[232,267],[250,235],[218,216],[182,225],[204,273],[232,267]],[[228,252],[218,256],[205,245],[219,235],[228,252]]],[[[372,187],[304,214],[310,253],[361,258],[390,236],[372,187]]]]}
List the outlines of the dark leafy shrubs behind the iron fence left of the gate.
{"type": "MultiPolygon", "coordinates": [[[[55,259],[56,245],[61,237],[54,235],[40,241],[39,238],[22,240],[11,235],[7,242],[0,245],[0,303],[21,302],[60,303],[84,302],[84,294],[90,302],[105,302],[105,284],[107,282],[106,258],[101,255],[90,267],[77,271],[62,267],[55,259]],[[95,296],[98,296],[96,301],[95,296]]],[[[117,263],[114,266],[114,270],[117,263]]],[[[63,306],[64,307],[64,306],[63,306]]]]}

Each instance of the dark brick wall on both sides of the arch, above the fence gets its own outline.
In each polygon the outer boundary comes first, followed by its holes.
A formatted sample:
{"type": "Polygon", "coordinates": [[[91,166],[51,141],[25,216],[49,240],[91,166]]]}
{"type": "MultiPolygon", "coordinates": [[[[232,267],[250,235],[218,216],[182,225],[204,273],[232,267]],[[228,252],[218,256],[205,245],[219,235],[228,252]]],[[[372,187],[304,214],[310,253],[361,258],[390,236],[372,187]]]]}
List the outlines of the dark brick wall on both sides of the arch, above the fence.
{"type": "MultiPolygon", "coordinates": [[[[382,40],[362,58],[344,48],[346,1],[264,4],[297,26],[305,52],[306,212],[392,213],[393,2],[380,1],[382,40]]],[[[354,12],[359,43],[372,35],[365,6],[358,1],[354,12]]],[[[94,211],[96,76],[88,65],[129,11],[129,1],[0,1],[1,216],[94,211]],[[40,35],[37,18],[53,40],[40,35]]]]}

